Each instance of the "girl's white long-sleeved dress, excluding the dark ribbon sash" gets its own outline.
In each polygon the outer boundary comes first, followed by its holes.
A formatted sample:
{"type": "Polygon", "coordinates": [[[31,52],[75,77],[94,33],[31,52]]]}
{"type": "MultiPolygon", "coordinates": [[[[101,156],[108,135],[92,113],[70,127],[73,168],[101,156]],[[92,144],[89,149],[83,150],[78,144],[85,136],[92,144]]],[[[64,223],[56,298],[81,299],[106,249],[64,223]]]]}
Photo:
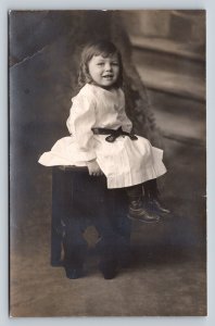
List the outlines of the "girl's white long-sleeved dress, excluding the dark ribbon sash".
{"type": "Polygon", "coordinates": [[[61,138],[45,152],[39,163],[45,166],[85,166],[96,159],[108,179],[108,188],[124,188],[157,178],[166,172],[163,151],[138,136],[131,140],[119,136],[114,142],[106,135],[93,135],[91,128],[130,131],[132,124],[125,113],[122,89],[106,90],[96,85],[85,85],[72,99],[66,125],[71,136],[61,138]]]}

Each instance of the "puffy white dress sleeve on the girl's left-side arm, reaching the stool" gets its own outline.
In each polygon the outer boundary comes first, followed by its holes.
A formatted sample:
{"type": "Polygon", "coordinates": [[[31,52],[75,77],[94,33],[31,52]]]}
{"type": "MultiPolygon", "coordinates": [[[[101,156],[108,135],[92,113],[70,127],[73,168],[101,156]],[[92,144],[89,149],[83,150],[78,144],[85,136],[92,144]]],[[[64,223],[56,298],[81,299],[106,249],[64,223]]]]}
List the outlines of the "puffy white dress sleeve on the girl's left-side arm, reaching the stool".
{"type": "Polygon", "coordinates": [[[85,161],[96,159],[94,138],[91,128],[96,123],[93,98],[79,93],[73,99],[69,116],[66,121],[77,148],[85,161]]]}

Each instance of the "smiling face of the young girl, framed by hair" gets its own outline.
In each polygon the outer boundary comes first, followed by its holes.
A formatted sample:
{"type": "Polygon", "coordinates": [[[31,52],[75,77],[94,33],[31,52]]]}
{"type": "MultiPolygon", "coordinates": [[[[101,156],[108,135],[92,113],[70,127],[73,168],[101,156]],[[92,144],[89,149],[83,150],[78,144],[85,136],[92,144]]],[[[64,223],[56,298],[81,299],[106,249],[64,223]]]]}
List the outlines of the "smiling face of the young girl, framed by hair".
{"type": "Polygon", "coordinates": [[[92,80],[101,87],[112,87],[119,74],[117,54],[110,57],[93,55],[88,63],[89,74],[92,80]]]}

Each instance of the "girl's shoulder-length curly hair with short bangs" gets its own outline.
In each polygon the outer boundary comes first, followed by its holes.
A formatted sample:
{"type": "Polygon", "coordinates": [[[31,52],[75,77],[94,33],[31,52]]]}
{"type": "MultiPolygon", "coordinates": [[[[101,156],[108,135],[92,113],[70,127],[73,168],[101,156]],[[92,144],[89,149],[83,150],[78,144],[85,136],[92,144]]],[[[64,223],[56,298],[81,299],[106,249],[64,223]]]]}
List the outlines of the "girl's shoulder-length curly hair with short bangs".
{"type": "Polygon", "coordinates": [[[87,83],[92,84],[93,80],[89,74],[88,63],[93,55],[102,55],[103,58],[112,57],[116,54],[119,64],[119,74],[115,83],[115,87],[123,86],[123,62],[122,57],[117,48],[109,40],[98,40],[87,43],[81,52],[79,75],[78,75],[78,89],[84,87],[87,83]]]}

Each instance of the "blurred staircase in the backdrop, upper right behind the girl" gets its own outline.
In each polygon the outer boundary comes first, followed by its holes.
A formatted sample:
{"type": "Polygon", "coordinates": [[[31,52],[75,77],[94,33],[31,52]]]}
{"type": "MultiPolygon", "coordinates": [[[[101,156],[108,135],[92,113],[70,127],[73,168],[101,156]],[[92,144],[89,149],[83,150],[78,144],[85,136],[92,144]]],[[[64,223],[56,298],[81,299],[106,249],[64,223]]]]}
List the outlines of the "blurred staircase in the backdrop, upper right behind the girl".
{"type": "MultiPolygon", "coordinates": [[[[134,11],[136,68],[164,136],[205,143],[205,12],[134,11]]],[[[126,17],[125,17],[126,23],[126,17]]]]}

